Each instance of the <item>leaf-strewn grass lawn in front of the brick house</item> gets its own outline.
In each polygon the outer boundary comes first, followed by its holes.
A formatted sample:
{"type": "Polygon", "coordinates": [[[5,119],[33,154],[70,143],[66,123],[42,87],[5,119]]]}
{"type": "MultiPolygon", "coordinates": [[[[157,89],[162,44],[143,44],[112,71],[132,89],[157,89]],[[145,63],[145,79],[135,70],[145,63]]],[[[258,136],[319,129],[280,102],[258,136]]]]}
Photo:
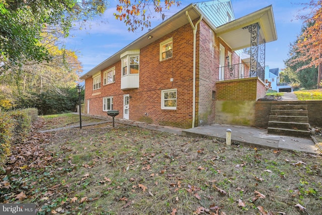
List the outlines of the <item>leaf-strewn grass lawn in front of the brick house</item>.
{"type": "Polygon", "coordinates": [[[321,214],[321,156],[119,123],[36,132],[56,117],[13,146],[1,202],[37,214],[321,214]]]}

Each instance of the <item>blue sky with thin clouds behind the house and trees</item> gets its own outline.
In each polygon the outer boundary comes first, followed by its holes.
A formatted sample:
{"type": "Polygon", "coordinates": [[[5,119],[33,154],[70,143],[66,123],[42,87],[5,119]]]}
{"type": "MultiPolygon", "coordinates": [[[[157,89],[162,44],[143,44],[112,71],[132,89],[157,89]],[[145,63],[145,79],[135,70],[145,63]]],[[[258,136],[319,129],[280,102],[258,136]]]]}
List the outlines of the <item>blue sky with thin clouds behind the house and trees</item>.
{"type": "MultiPolygon", "coordinates": [[[[216,0],[214,0],[216,1],[216,0]]],[[[96,65],[112,56],[138,37],[147,32],[148,29],[137,32],[128,32],[128,27],[113,16],[116,12],[116,5],[119,1],[111,0],[110,6],[104,15],[87,22],[87,26],[82,30],[72,30],[70,37],[66,39],[66,48],[74,50],[78,60],[83,65],[83,73],[86,74],[96,65]]],[[[172,16],[191,3],[201,2],[181,1],[181,6],[173,6],[172,16]]],[[[302,20],[296,19],[296,15],[303,13],[302,3],[309,0],[231,0],[235,19],[246,16],[269,5],[273,7],[275,26],[277,31],[277,41],[266,44],[265,64],[269,68],[285,68],[284,60],[288,58],[290,43],[293,43],[300,34],[302,20]]],[[[156,17],[151,20],[150,29],[156,27],[162,19],[156,17]]]]}

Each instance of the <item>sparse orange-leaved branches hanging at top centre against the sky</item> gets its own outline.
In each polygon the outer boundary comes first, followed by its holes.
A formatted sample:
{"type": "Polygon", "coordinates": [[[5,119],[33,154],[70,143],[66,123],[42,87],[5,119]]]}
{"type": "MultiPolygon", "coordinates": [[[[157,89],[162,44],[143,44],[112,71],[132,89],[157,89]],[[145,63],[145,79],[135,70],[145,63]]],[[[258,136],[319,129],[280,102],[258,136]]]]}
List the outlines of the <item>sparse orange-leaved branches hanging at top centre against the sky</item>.
{"type": "Polygon", "coordinates": [[[180,6],[178,0],[165,0],[164,4],[160,0],[143,0],[132,4],[128,0],[119,0],[120,4],[117,5],[114,16],[117,20],[124,21],[125,25],[129,26],[128,31],[134,32],[139,27],[141,30],[151,26],[150,19],[154,17],[153,13],[158,14],[162,20],[166,18],[165,11],[169,10],[172,6],[180,6]],[[153,8],[154,11],[150,9],[153,8]]]}

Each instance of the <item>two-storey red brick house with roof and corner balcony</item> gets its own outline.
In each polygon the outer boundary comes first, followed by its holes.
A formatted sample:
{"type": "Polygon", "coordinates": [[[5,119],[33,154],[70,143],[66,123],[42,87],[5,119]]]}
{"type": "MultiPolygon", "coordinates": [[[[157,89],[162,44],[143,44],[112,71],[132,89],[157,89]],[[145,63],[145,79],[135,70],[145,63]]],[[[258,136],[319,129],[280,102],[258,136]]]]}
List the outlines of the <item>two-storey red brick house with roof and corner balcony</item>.
{"type": "Polygon", "coordinates": [[[234,19],[230,0],[191,4],[91,69],[85,113],[190,128],[252,125],[264,97],[272,6],[234,19]],[[250,47],[250,54],[240,49],[250,47]]]}

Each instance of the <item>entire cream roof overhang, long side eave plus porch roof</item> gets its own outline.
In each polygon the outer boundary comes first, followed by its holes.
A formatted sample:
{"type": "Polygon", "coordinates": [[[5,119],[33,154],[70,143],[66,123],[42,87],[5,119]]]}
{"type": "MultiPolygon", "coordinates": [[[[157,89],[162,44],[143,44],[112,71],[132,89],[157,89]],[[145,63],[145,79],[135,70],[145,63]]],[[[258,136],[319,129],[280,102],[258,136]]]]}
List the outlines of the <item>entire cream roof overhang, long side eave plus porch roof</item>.
{"type": "Polygon", "coordinates": [[[196,4],[190,4],[168,20],[159,24],[152,30],[146,32],[144,35],[125,46],[111,57],[107,58],[99,65],[88,71],[85,75],[81,76],[81,80],[86,80],[92,77],[94,74],[105,69],[106,67],[118,62],[123,52],[131,49],[141,49],[148,44],[164,37],[170,32],[189,23],[186,12],[188,12],[191,20],[197,20],[200,16],[203,16],[203,20],[215,31],[218,37],[220,37],[231,49],[239,50],[242,48],[250,47],[251,37],[248,29],[243,29],[248,25],[259,23],[260,24],[260,43],[264,40],[266,42],[277,40],[277,33],[275,28],[275,21],[273,16],[272,6],[268,6],[262,10],[241,17],[237,20],[231,21],[227,24],[215,27],[207,16],[203,14],[202,10],[196,4]],[[149,36],[152,38],[148,39],[149,36]]]}

